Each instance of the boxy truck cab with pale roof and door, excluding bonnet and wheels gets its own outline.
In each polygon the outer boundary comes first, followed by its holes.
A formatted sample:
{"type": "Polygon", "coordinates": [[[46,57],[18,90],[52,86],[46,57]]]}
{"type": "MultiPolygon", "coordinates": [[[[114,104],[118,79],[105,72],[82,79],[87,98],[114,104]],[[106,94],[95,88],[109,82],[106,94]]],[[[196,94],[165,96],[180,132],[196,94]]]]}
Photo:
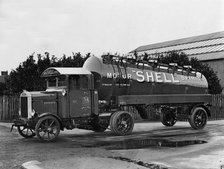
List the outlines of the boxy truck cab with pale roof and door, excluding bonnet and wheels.
{"type": "MultiPolygon", "coordinates": [[[[60,91],[59,113],[64,118],[90,116],[94,109],[93,75],[83,68],[48,68],[42,73],[46,78],[46,92],[60,91]]],[[[97,102],[96,102],[97,103],[97,102]]]]}

